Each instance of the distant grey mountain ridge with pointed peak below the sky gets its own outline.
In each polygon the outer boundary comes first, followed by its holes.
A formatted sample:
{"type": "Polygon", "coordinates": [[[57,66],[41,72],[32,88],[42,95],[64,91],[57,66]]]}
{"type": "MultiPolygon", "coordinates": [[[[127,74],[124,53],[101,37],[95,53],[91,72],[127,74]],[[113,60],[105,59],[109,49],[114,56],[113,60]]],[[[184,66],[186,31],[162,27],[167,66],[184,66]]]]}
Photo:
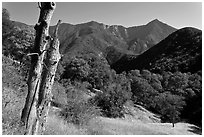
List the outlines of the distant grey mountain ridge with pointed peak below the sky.
{"type": "MultiPolygon", "coordinates": [[[[51,33],[54,27],[50,27],[51,33]]],[[[62,54],[70,49],[83,51],[84,48],[89,48],[97,54],[102,52],[103,57],[112,64],[122,56],[143,53],[174,31],[175,28],[157,19],[146,25],[128,28],[90,21],[76,25],[62,23],[59,27],[59,39],[62,54]],[[112,53],[107,52],[109,49],[112,53]],[[113,55],[115,53],[117,55],[113,55]],[[110,56],[113,58],[109,58],[110,56]]]]}

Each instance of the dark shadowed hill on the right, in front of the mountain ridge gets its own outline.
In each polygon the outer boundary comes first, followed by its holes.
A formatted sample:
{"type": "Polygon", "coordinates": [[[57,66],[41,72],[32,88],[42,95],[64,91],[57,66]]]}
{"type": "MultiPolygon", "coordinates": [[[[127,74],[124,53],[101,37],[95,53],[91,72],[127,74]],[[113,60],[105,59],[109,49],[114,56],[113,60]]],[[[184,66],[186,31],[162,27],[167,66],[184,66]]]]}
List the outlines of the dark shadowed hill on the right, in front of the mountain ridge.
{"type": "Polygon", "coordinates": [[[177,30],[137,58],[123,57],[112,68],[118,73],[133,69],[197,72],[202,68],[202,31],[190,27],[177,30]]]}

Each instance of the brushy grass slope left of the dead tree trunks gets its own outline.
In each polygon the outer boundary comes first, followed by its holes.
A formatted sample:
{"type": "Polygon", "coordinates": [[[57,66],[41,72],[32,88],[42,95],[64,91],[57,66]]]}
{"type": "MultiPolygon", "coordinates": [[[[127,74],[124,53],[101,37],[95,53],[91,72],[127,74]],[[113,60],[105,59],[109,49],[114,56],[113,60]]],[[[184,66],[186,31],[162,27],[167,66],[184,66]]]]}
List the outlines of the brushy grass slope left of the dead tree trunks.
{"type": "Polygon", "coordinates": [[[19,127],[27,86],[11,59],[2,56],[2,134],[22,134],[19,127]]]}

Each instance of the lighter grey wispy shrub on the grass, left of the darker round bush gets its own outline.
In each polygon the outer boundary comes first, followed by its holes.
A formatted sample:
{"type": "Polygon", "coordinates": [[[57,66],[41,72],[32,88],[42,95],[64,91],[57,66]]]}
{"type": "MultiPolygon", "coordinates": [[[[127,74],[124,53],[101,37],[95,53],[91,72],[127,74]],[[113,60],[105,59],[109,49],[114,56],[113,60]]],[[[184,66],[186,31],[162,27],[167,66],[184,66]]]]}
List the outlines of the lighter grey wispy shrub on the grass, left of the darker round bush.
{"type": "Polygon", "coordinates": [[[90,119],[100,115],[100,109],[84,98],[85,93],[73,87],[67,90],[67,103],[60,116],[68,123],[85,125],[90,119]]]}

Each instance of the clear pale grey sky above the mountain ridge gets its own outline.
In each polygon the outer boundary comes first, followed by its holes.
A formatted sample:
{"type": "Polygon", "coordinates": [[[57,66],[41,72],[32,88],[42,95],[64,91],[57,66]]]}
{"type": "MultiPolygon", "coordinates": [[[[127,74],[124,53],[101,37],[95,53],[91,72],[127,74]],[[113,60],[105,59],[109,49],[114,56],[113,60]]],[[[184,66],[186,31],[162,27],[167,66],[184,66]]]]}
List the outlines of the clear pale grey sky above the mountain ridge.
{"type": "MultiPolygon", "coordinates": [[[[201,2],[57,2],[51,25],[59,19],[64,23],[80,24],[96,21],[125,27],[145,25],[158,19],[177,29],[202,29],[201,2]]],[[[37,3],[3,2],[11,20],[34,25],[39,17],[37,3]]]]}

